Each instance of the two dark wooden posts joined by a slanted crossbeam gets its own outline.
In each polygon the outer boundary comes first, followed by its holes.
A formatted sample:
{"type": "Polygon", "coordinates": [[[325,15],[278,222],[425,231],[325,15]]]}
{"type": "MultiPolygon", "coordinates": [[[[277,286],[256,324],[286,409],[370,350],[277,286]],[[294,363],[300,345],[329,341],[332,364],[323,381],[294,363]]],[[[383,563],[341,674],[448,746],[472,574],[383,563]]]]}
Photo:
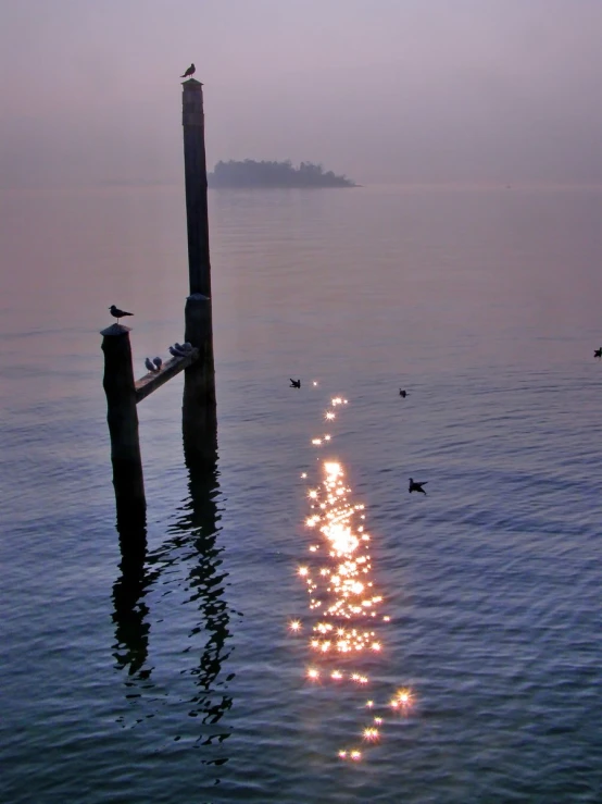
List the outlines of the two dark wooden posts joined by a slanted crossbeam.
{"type": "Polygon", "coordinates": [[[216,449],[215,367],[211,310],[211,265],[203,85],[190,78],[183,84],[184,166],[188,272],[190,295],[185,308],[185,342],[192,349],[167,360],[156,372],[134,380],[129,327],[113,324],[103,330],[104,391],[106,393],[113,484],[120,532],[135,532],[146,517],[145,482],[138,441],[137,403],[185,371],[183,435],[187,461],[208,463],[216,449]]]}

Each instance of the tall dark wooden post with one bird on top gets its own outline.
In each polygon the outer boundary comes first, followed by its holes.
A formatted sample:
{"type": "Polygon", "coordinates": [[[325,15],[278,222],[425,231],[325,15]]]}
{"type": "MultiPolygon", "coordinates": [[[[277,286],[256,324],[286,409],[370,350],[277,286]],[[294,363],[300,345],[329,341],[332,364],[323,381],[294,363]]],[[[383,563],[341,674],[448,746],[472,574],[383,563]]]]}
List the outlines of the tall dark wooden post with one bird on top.
{"type": "Polygon", "coordinates": [[[184,169],[188,272],[190,295],[185,309],[185,341],[199,349],[198,359],[185,371],[183,428],[185,443],[199,443],[215,417],[215,367],[211,309],[209,209],[204,143],[203,85],[190,78],[183,84],[184,169]],[[213,412],[210,412],[213,409],[213,412]]]}

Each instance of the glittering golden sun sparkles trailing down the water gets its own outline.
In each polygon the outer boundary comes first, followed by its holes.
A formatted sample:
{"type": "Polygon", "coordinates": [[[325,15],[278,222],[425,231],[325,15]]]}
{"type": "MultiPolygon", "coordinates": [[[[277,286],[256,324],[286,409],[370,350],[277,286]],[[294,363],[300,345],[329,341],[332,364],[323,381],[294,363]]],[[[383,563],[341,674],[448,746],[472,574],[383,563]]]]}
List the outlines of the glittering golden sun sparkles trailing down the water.
{"type": "MultiPolygon", "coordinates": [[[[330,399],[324,419],[335,422],[339,418],[336,408],[347,405],[341,396],[330,399]]],[[[336,422],[335,422],[336,424],[336,422]]],[[[322,434],[311,440],[323,450],[333,450],[334,436],[322,434]]],[[[324,455],[324,453],[322,453],[324,455]]],[[[391,697],[391,692],[379,694],[381,684],[377,669],[387,655],[385,648],[386,623],[391,618],[382,613],[385,597],[377,589],[373,572],[372,535],[366,523],[363,503],[353,498],[342,463],[333,455],[316,460],[319,477],[302,479],[306,505],[304,527],[311,543],[306,560],[297,567],[309,593],[309,616],[303,618],[303,644],[311,653],[305,667],[308,681],[326,687],[341,701],[350,701],[360,688],[372,695],[359,703],[369,712],[369,721],[360,727],[366,751],[373,751],[381,740],[381,728],[389,729],[399,722],[399,715],[409,714],[413,703],[412,691],[401,688],[391,697]],[[310,485],[311,484],[311,485],[310,485]],[[337,693],[335,693],[335,689],[337,693]],[[387,698],[388,695],[388,698],[387,698]],[[389,707],[389,716],[380,717],[389,707]],[[398,714],[392,717],[391,709],[398,714]],[[374,716],[376,715],[376,716],[374,716]]],[[[291,619],[289,631],[299,634],[301,619],[291,619]]],[[[362,693],[360,693],[362,694],[362,693]]],[[[360,701],[365,698],[360,698],[360,701]]],[[[353,705],[352,705],[353,706],[353,705]]],[[[358,734],[358,732],[355,732],[358,734]]],[[[352,738],[353,739],[353,738],[352,738]]],[[[351,745],[338,752],[341,759],[359,762],[363,752],[358,747],[358,737],[351,745]]]]}

